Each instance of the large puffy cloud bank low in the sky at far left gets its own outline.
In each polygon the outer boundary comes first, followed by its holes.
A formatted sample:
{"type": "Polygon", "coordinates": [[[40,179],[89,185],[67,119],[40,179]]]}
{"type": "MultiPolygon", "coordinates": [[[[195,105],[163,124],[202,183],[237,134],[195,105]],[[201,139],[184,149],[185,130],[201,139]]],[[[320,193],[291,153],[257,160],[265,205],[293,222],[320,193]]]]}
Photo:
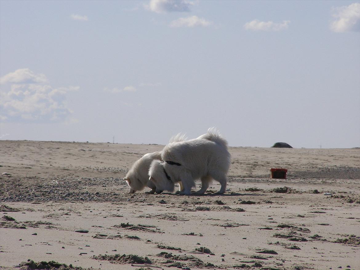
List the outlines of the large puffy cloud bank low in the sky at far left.
{"type": "Polygon", "coordinates": [[[53,88],[46,76],[28,68],[1,77],[0,108],[2,121],[60,121],[71,113],[66,94],[78,86],[53,88]]]}

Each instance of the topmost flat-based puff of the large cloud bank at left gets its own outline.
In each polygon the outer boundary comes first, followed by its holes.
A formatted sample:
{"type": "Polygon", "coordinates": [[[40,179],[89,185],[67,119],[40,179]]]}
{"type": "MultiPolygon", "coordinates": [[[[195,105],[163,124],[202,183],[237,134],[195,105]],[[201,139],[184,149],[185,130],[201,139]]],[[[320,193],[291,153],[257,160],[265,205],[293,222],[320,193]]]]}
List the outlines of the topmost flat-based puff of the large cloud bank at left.
{"type": "Polygon", "coordinates": [[[0,77],[0,84],[42,84],[46,82],[48,82],[48,79],[44,74],[35,74],[28,68],[20,68],[0,77]]]}

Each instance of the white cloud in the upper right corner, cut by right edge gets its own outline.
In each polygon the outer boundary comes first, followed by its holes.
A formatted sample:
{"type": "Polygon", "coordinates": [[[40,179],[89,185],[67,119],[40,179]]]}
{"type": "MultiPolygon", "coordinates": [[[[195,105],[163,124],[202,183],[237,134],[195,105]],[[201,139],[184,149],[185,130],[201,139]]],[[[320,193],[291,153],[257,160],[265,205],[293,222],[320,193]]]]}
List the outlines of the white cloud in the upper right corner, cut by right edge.
{"type": "Polygon", "coordinates": [[[332,31],[338,33],[360,31],[360,3],[334,8],[334,11],[336,13],[333,17],[337,19],[330,24],[332,31]]]}

